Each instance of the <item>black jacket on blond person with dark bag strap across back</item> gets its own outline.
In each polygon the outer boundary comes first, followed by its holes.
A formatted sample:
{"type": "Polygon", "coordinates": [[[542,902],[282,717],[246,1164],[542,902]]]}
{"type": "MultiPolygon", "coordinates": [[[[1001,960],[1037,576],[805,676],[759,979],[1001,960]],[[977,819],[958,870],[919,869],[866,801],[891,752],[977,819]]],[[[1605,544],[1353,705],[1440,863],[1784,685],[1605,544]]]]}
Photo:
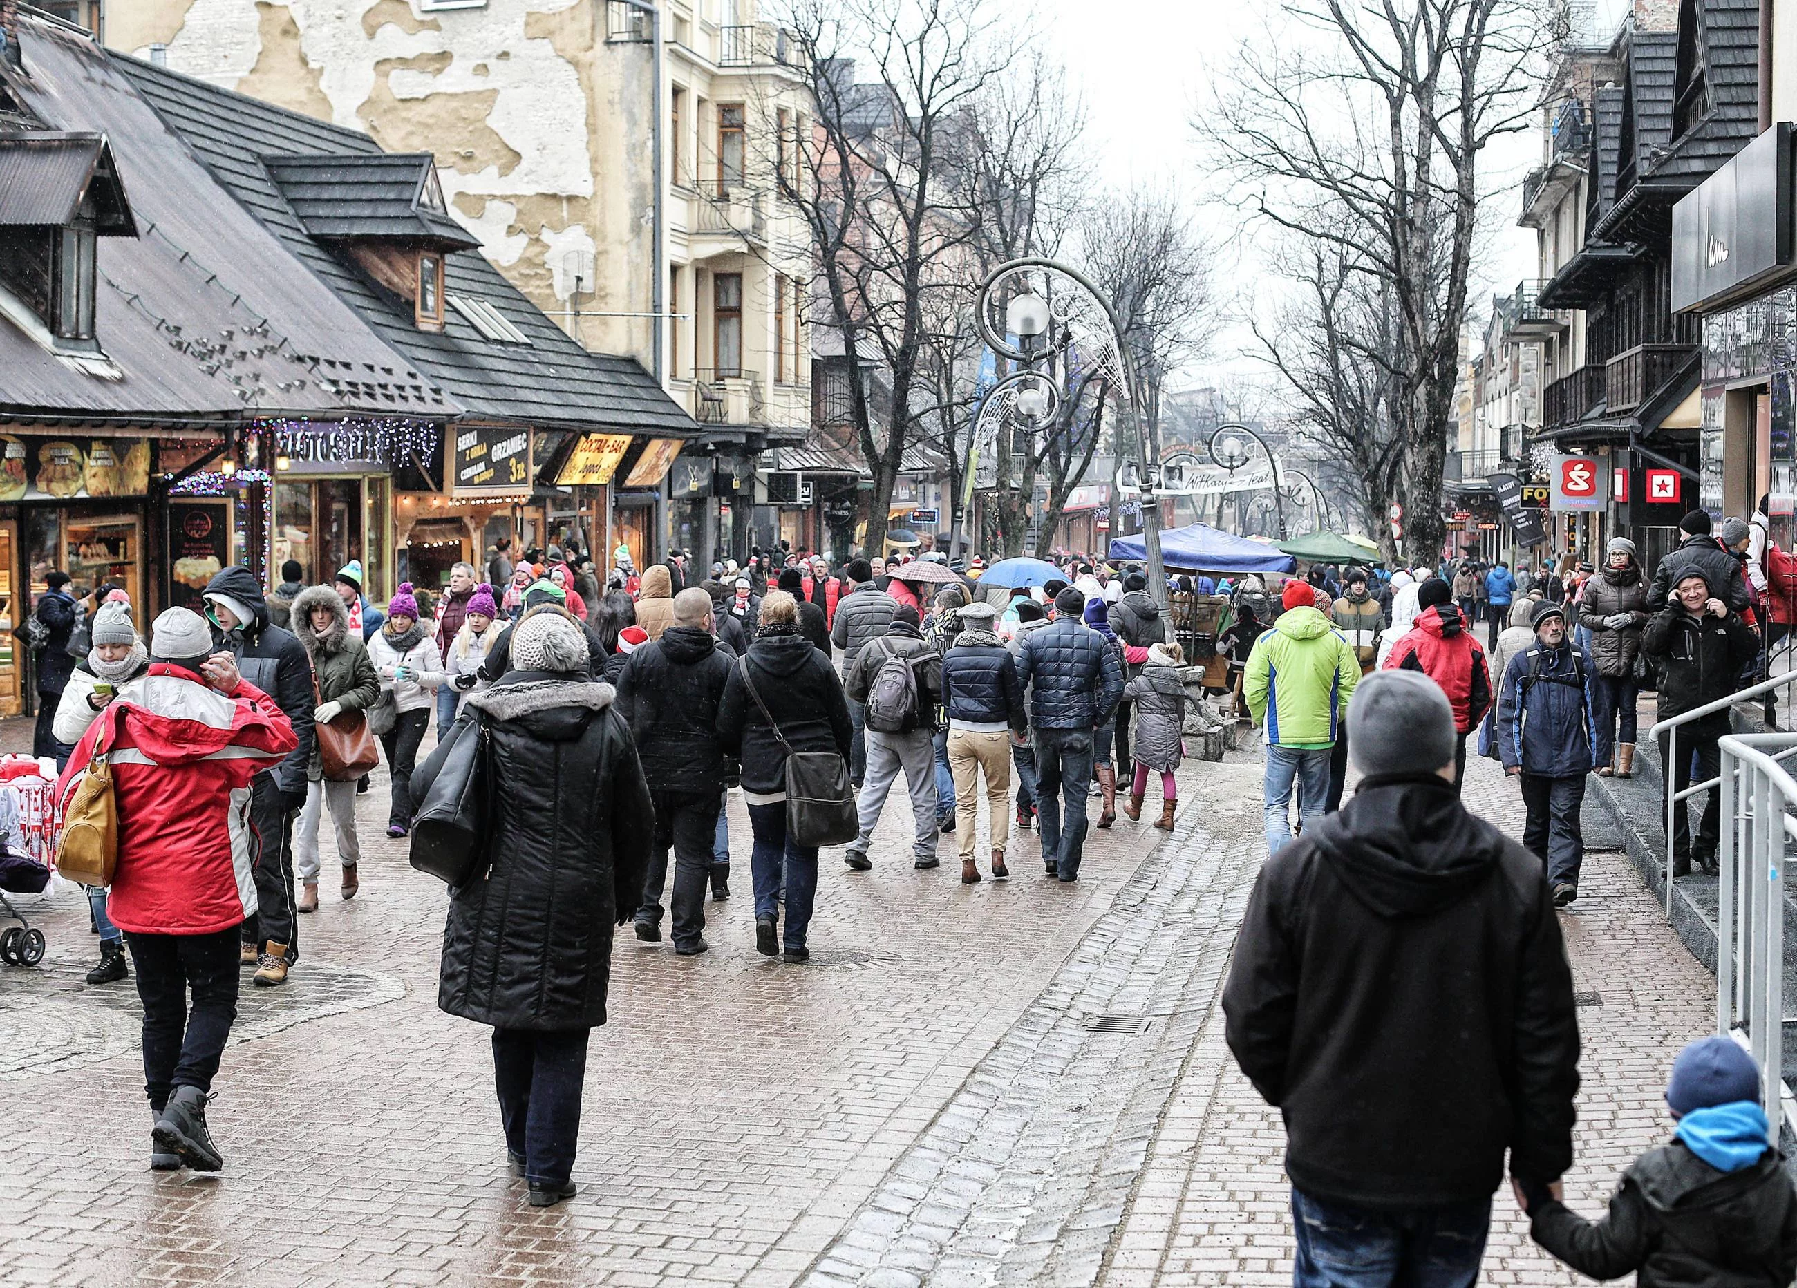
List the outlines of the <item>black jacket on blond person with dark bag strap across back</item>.
{"type": "MultiPolygon", "coordinates": [[[[830,659],[812,648],[792,627],[764,625],[749,645],[748,668],[767,711],[792,751],[848,754],[854,726],[843,683],[830,659]]],[[[717,737],[724,751],[742,762],[742,790],[757,796],[785,792],[785,751],[762,710],[742,683],[742,666],[731,666],[724,701],[717,708],[717,737]]]]}

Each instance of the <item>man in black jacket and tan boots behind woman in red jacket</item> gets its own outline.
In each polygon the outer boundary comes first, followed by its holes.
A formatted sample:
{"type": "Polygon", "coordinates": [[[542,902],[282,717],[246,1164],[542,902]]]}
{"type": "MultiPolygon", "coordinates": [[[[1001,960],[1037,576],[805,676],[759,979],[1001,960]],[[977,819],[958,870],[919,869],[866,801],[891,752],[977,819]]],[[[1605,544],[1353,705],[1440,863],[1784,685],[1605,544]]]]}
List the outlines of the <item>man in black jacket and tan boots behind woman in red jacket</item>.
{"type": "Polygon", "coordinates": [[[207,622],[219,648],[237,657],[239,674],[286,711],[298,745],[250,783],[257,911],[243,923],[243,965],[257,984],[288,983],[300,956],[300,920],[293,902],[293,817],[305,805],[305,767],[313,758],[313,663],[291,631],[273,625],[262,584],[248,568],[219,571],[205,589],[207,622]]]}

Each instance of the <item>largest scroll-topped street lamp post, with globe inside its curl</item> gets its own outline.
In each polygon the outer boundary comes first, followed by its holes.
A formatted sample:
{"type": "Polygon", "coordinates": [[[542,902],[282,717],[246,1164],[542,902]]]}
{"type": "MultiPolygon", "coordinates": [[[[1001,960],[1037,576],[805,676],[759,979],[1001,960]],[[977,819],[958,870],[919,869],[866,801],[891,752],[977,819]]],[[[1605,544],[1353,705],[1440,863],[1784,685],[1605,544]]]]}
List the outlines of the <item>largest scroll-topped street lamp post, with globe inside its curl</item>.
{"type": "MultiPolygon", "coordinates": [[[[1116,309],[1111,307],[1111,300],[1107,300],[1084,273],[1067,268],[1058,260],[1040,257],[1014,259],[992,269],[987,275],[987,280],[979,286],[979,302],[974,309],[976,322],[979,323],[979,334],[992,352],[1014,363],[1022,363],[1031,372],[1035,372],[1037,366],[1048,357],[1073,345],[1075,334],[1069,322],[1073,307],[1069,307],[1064,300],[1062,311],[1057,311],[1049,300],[1042,298],[1033,289],[1012,298],[1005,311],[1006,329],[1017,336],[1019,343],[1012,345],[1006,336],[994,332],[990,309],[994,287],[1010,273],[1028,273],[1031,269],[1042,273],[1044,277],[1060,275],[1067,278],[1067,282],[1078,287],[1085,300],[1096,304],[1103,313],[1103,340],[1116,354],[1116,370],[1111,383],[1118,390],[1118,397],[1129,411],[1130,428],[1136,431],[1136,463],[1141,471],[1141,535],[1145,553],[1148,555],[1148,591],[1154,595],[1155,604],[1161,605],[1161,611],[1168,613],[1166,564],[1161,559],[1161,510],[1154,496],[1154,478],[1157,469],[1152,463],[1148,435],[1143,431],[1141,411],[1136,404],[1138,381],[1134,365],[1129,356],[1129,347],[1123,343],[1123,327],[1118,323],[1116,309]],[[1053,331],[1057,322],[1062,323],[1058,338],[1053,331]]],[[[1046,384],[1051,388],[1053,381],[1048,381],[1046,384]]],[[[994,393],[996,392],[997,390],[994,390],[994,393]]],[[[1022,411],[1022,408],[1019,408],[1019,411],[1022,411]]]]}

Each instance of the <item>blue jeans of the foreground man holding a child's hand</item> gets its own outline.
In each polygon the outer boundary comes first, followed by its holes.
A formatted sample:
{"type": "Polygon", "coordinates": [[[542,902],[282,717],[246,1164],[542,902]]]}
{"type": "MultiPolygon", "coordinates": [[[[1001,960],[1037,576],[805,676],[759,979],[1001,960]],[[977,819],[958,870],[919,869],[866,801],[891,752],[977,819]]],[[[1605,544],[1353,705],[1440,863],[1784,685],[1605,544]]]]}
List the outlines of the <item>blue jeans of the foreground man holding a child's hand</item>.
{"type": "Polygon", "coordinates": [[[1294,1288],[1470,1288],[1492,1200],[1366,1211],[1292,1187],[1294,1288]]]}

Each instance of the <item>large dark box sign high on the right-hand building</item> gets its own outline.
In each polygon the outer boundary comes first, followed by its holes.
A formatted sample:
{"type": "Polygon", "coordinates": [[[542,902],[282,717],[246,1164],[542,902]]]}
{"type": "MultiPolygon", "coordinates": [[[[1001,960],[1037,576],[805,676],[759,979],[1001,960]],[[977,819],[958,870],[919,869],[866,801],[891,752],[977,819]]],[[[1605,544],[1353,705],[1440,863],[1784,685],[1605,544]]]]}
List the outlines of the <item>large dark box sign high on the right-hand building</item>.
{"type": "Polygon", "coordinates": [[[1792,273],[1792,131],[1772,126],[1673,207],[1673,313],[1722,309],[1792,273]]]}

